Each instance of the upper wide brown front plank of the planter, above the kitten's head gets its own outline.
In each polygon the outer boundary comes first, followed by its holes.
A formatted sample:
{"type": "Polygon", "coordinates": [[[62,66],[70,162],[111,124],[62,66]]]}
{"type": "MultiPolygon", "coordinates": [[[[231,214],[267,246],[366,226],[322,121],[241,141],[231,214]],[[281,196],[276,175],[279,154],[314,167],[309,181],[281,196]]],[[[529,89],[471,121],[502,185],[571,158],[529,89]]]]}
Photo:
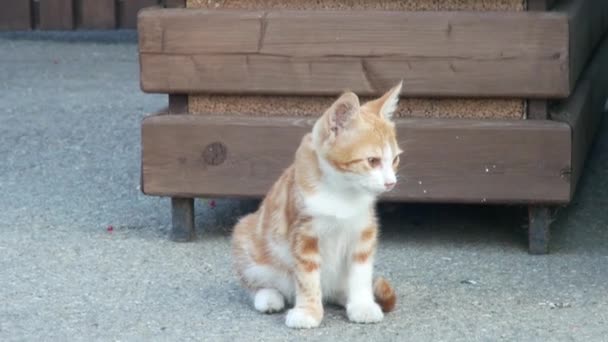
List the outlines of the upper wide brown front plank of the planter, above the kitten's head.
{"type": "Polygon", "coordinates": [[[561,13],[140,13],[141,86],[158,93],[553,98],[569,93],[561,13]]]}

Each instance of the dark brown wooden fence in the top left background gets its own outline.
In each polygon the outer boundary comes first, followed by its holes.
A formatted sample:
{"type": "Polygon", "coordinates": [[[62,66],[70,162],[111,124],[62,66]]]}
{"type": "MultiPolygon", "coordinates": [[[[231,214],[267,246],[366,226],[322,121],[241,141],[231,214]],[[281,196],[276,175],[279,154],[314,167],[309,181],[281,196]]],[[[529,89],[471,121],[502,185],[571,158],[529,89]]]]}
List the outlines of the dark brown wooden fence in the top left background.
{"type": "Polygon", "coordinates": [[[186,7],[186,0],[0,0],[0,31],[134,29],[147,7],[186,7]]]}

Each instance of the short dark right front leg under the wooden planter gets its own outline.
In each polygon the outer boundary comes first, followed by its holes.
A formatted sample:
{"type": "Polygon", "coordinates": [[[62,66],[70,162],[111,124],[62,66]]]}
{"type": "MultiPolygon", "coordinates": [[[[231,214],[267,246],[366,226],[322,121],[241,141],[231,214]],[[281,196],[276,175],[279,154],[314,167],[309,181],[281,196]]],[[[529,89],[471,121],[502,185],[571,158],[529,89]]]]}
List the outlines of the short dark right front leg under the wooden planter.
{"type": "Polygon", "coordinates": [[[530,254],[549,253],[551,240],[551,209],[547,206],[528,207],[528,251],[530,254]]]}

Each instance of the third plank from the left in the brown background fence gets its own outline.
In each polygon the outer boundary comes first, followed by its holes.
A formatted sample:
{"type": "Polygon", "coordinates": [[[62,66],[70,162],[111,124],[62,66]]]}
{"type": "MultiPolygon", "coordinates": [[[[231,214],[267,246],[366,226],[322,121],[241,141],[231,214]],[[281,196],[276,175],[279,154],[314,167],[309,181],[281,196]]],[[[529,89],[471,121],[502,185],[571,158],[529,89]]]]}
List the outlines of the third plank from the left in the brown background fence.
{"type": "Polygon", "coordinates": [[[116,28],[114,0],[80,0],[79,27],[83,29],[116,28]]]}

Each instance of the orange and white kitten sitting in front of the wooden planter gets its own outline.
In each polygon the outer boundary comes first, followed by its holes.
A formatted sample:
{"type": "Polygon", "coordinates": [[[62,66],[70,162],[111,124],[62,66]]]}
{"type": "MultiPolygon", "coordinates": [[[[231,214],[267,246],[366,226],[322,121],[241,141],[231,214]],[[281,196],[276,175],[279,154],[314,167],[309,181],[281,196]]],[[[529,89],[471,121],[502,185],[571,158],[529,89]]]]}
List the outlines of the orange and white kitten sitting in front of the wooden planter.
{"type": "Polygon", "coordinates": [[[363,105],[344,93],[304,136],[260,208],[237,223],[234,265],[258,311],[292,303],[287,326],[312,328],[323,301],[359,323],[394,308],[394,290],[383,278],[373,282],[372,272],[376,198],[397,182],[401,150],[391,116],[400,91],[401,83],[363,105]]]}

